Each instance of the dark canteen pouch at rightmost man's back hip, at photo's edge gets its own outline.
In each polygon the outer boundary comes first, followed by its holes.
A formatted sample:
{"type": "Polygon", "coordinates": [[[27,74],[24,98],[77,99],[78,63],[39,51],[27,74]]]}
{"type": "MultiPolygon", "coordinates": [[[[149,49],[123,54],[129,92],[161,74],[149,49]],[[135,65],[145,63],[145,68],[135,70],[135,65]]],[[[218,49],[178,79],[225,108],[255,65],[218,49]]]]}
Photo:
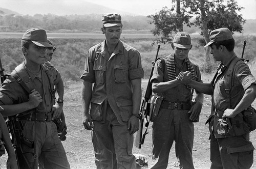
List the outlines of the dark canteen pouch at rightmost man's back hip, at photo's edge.
{"type": "Polygon", "coordinates": [[[243,120],[250,127],[249,130],[253,131],[256,129],[256,110],[253,107],[247,108],[242,111],[243,120]]]}

